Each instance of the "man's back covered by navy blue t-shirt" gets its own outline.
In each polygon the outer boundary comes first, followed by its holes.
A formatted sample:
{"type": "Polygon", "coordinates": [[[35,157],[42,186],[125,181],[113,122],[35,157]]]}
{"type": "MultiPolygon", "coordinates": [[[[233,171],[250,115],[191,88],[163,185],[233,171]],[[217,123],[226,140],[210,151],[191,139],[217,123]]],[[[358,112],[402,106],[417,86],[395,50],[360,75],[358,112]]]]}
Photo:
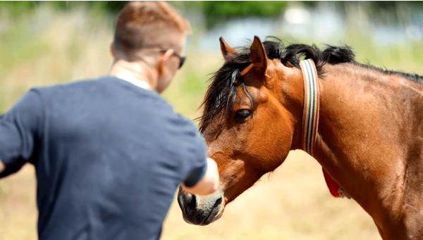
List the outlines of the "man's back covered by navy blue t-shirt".
{"type": "Polygon", "coordinates": [[[23,121],[40,239],[157,239],[178,184],[205,165],[192,123],[116,77],[34,89],[15,108],[1,120],[23,121]]]}

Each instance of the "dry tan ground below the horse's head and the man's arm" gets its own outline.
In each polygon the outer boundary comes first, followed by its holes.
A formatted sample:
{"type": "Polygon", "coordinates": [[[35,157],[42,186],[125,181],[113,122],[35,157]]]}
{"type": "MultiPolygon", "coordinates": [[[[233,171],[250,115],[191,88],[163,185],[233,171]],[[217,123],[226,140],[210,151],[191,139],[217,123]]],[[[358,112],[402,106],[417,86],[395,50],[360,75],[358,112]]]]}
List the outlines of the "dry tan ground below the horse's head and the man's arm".
{"type": "MultiPolygon", "coordinates": [[[[37,239],[34,169],[0,181],[0,240],[37,239]]],[[[142,239],[142,238],[140,238],[142,239]]],[[[205,227],[183,221],[177,201],[162,239],[380,239],[372,219],[353,200],[333,198],[321,168],[302,151],[230,203],[205,227]]]]}

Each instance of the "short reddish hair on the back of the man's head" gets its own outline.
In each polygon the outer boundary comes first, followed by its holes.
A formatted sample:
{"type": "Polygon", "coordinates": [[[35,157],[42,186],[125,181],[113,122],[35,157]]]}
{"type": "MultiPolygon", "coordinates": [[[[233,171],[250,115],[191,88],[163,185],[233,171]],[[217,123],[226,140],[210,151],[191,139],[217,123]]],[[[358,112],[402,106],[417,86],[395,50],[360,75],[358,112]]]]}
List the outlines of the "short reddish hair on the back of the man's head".
{"type": "Polygon", "coordinates": [[[142,49],[172,49],[175,35],[190,33],[188,20],[163,1],[133,1],[116,22],[113,47],[130,56],[142,49]]]}

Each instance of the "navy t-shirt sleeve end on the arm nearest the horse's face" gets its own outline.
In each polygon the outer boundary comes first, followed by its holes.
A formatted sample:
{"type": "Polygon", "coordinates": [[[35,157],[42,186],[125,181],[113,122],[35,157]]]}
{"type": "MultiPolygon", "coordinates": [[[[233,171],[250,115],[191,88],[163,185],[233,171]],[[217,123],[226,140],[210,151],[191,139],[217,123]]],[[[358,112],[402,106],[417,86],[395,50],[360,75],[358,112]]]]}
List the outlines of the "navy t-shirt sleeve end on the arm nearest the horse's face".
{"type": "Polygon", "coordinates": [[[189,122],[190,125],[190,143],[189,143],[189,155],[188,158],[188,175],[185,175],[183,184],[186,187],[194,187],[207,170],[207,147],[204,142],[204,137],[198,132],[197,127],[195,127],[192,122],[189,122]]]}

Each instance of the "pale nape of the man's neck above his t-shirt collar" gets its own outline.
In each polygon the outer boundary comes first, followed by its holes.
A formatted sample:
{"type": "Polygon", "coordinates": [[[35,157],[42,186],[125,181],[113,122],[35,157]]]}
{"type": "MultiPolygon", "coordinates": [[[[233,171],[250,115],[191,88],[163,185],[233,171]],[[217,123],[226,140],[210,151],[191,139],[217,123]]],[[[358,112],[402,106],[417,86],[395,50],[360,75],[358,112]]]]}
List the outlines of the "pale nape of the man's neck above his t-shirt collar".
{"type": "Polygon", "coordinates": [[[153,90],[157,88],[157,72],[142,61],[118,60],[111,66],[110,75],[143,89],[153,90]]]}

